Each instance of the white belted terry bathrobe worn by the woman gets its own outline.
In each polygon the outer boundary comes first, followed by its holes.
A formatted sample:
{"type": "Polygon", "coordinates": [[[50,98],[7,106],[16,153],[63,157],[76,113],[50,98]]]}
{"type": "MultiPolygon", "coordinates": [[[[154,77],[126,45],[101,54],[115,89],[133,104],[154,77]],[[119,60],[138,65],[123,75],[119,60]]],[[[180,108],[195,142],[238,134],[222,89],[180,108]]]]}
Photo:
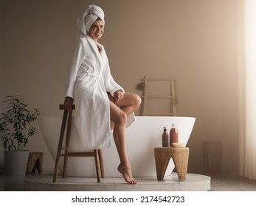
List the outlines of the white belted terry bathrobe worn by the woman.
{"type": "MultiPolygon", "coordinates": [[[[66,96],[75,102],[75,125],[85,148],[112,146],[107,92],[123,88],[114,81],[103,45],[87,35],[77,39],[66,84],[66,96]],[[100,52],[97,49],[100,47],[100,52]]],[[[128,117],[128,125],[134,113],[128,117]]]]}

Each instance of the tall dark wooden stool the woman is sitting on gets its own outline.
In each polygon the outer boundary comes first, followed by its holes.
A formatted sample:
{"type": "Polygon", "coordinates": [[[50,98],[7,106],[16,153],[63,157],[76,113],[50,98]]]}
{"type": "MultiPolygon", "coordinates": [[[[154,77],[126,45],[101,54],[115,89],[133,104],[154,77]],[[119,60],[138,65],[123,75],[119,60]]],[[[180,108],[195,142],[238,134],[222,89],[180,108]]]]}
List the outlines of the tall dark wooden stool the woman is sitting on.
{"type": "MultiPolygon", "coordinates": [[[[60,104],[60,110],[64,110],[64,105],[60,104]]],[[[75,110],[75,105],[72,105],[72,110],[75,110]]],[[[94,149],[94,152],[69,152],[69,140],[71,134],[71,125],[72,125],[72,110],[63,112],[63,120],[60,129],[60,140],[58,143],[58,152],[55,160],[55,171],[53,174],[53,182],[56,182],[56,178],[58,176],[58,167],[60,163],[60,157],[64,157],[63,164],[63,174],[62,177],[66,177],[66,166],[68,163],[68,157],[94,157],[95,165],[96,165],[96,173],[97,173],[97,182],[100,182],[100,173],[101,177],[104,177],[104,169],[103,169],[103,157],[101,149],[94,149]],[[67,122],[67,129],[66,129],[67,122]],[[66,146],[63,146],[63,138],[66,129],[66,146]],[[65,150],[64,154],[61,154],[61,151],[65,150]]]]}

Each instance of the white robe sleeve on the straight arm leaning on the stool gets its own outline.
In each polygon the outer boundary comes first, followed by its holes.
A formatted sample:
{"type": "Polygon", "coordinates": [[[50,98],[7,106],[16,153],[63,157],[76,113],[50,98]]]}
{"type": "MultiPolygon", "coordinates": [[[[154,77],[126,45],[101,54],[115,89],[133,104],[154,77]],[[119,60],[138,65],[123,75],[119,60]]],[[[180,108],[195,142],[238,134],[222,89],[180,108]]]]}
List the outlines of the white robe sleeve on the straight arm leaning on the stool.
{"type": "Polygon", "coordinates": [[[75,49],[72,54],[72,59],[69,63],[69,69],[66,77],[66,93],[65,96],[72,97],[74,99],[75,81],[77,78],[77,71],[86,56],[86,49],[83,45],[83,40],[78,39],[75,49]]]}

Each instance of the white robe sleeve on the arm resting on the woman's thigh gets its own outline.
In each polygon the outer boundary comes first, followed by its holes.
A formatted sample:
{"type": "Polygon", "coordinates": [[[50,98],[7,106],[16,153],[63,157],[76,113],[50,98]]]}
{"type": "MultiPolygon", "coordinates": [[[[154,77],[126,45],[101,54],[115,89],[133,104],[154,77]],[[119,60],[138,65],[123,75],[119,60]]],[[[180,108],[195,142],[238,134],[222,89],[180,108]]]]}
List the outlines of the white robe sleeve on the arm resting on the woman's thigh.
{"type": "Polygon", "coordinates": [[[109,93],[111,93],[111,96],[114,96],[114,92],[117,90],[122,90],[122,92],[125,92],[125,90],[117,84],[117,82],[114,81],[114,78],[111,76],[111,72],[110,72],[110,68],[109,68],[109,64],[108,64],[108,57],[106,56],[105,52],[105,72],[103,74],[103,77],[105,79],[104,81],[104,85],[105,85],[105,90],[109,93]]]}

